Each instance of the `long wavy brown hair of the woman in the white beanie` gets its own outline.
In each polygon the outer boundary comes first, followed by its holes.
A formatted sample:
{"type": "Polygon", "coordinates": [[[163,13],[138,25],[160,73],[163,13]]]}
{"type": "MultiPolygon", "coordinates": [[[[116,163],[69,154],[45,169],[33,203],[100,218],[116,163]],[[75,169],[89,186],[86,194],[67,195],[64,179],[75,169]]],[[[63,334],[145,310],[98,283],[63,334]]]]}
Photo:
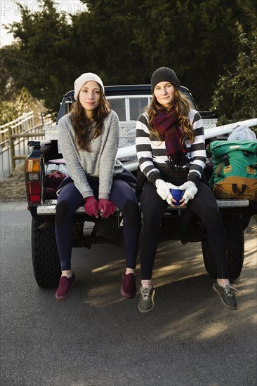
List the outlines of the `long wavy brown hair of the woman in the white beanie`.
{"type": "Polygon", "coordinates": [[[84,107],[79,102],[79,96],[77,101],[73,103],[70,111],[70,121],[74,128],[77,145],[79,149],[84,149],[87,152],[91,152],[91,140],[99,137],[103,128],[103,122],[112,109],[100,85],[99,88],[100,103],[93,110],[92,119],[86,117],[84,107]]]}

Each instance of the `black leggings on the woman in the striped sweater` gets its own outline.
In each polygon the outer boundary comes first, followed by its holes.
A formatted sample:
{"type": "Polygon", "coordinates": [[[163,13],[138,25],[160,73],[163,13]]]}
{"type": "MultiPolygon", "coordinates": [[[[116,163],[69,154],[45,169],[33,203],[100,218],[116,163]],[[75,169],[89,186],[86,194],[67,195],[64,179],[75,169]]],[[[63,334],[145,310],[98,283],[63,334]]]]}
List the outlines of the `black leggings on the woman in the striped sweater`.
{"type": "MultiPolygon", "coordinates": [[[[140,203],[143,212],[139,243],[141,277],[142,279],[151,279],[157,251],[158,229],[168,204],[159,197],[156,187],[149,181],[145,182],[140,203]]],[[[223,219],[213,192],[203,182],[199,182],[195,198],[188,201],[187,211],[188,209],[201,218],[207,229],[211,257],[215,263],[218,278],[228,279],[223,219]]]]}

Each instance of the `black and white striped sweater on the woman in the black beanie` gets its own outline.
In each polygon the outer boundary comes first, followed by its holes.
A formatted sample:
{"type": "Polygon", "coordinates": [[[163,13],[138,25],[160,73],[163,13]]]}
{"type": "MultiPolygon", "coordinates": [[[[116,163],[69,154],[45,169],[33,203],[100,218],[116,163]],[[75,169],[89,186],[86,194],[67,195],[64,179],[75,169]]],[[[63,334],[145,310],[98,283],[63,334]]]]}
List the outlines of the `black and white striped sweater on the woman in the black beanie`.
{"type": "MultiPolygon", "coordinates": [[[[204,127],[202,117],[196,110],[190,109],[188,117],[192,124],[195,140],[193,143],[185,142],[187,159],[190,161],[187,180],[193,181],[197,185],[202,177],[206,161],[204,127]]],[[[141,114],[136,124],[136,152],[140,170],[154,184],[158,178],[161,178],[159,168],[163,169],[169,166],[165,141],[160,141],[156,137],[150,140],[147,113],[141,114]]]]}

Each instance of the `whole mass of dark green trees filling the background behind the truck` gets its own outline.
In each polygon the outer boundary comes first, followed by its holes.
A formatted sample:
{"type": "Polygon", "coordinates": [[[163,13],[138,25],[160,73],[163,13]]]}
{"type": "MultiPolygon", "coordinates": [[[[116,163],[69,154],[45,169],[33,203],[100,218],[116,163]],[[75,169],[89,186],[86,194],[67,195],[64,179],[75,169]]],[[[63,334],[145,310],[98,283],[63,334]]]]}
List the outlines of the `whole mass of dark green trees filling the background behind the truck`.
{"type": "Polygon", "coordinates": [[[82,0],[87,11],[58,14],[53,0],[35,13],[20,5],[22,21],[11,32],[20,40],[15,85],[25,86],[58,111],[61,95],[83,72],[104,84],[145,84],[154,69],[175,69],[200,109],[209,109],[218,76],[239,53],[235,23],[249,34],[253,0],[82,0]]]}

